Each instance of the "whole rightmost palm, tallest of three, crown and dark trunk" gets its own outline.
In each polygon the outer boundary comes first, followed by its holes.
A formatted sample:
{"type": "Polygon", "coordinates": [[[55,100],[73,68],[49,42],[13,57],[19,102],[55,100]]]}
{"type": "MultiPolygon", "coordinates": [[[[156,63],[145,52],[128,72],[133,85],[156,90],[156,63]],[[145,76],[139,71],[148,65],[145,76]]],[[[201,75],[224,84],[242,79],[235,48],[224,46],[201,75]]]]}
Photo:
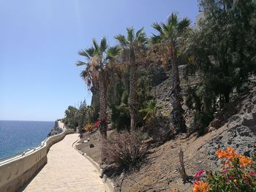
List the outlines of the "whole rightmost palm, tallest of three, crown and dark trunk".
{"type": "Polygon", "coordinates": [[[155,45],[161,45],[167,50],[165,58],[172,66],[172,90],[171,90],[171,103],[173,105],[173,112],[171,112],[171,120],[173,127],[178,132],[186,132],[187,126],[183,118],[184,110],[181,107],[181,87],[180,79],[178,75],[178,53],[180,47],[180,40],[182,39],[184,32],[189,28],[190,20],[184,18],[178,20],[178,15],[172,13],[167,18],[167,23],[153,23],[152,27],[158,31],[158,34],[153,34],[151,42],[155,45]]]}

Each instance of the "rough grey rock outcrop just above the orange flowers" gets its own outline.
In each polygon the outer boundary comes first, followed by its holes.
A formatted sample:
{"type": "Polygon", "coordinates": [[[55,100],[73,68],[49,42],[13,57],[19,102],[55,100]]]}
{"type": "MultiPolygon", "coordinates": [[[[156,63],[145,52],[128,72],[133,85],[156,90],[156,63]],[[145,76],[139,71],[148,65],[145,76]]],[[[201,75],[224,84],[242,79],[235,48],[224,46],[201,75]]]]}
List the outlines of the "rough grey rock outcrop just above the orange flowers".
{"type": "MultiPolygon", "coordinates": [[[[236,152],[252,157],[256,152],[256,91],[242,101],[241,110],[227,120],[227,128],[222,134],[213,137],[202,147],[208,154],[208,159],[216,161],[215,150],[227,146],[236,152]]],[[[218,161],[217,165],[220,162],[218,161]]]]}

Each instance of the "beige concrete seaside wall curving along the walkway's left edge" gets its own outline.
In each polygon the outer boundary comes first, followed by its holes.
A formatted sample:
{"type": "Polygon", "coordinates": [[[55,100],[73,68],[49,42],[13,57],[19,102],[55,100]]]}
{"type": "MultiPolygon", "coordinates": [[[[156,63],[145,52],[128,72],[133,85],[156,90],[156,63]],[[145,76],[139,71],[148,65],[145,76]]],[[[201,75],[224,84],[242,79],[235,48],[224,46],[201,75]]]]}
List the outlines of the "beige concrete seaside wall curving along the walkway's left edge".
{"type": "Polygon", "coordinates": [[[73,134],[72,129],[67,129],[61,134],[48,137],[42,147],[30,150],[25,155],[0,162],[0,191],[18,191],[31,180],[45,164],[50,147],[61,141],[67,134],[73,134]]]}

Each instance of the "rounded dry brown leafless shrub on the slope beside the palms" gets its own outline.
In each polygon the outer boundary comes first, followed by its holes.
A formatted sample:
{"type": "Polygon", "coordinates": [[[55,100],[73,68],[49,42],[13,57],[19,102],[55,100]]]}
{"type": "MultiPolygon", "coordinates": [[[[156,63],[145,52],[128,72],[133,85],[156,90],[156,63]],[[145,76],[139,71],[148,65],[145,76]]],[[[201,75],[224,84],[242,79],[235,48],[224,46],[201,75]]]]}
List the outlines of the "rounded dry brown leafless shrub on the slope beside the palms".
{"type": "Polygon", "coordinates": [[[118,166],[131,168],[139,166],[146,155],[146,145],[140,140],[139,134],[128,131],[111,135],[108,141],[108,160],[118,166]]]}

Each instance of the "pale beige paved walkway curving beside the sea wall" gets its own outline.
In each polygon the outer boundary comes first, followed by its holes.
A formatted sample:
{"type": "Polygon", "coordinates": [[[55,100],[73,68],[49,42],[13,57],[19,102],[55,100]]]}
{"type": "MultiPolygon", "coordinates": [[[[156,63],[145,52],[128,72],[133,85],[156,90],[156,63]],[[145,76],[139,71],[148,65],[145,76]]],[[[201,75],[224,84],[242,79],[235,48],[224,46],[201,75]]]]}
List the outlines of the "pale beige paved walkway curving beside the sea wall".
{"type": "Polygon", "coordinates": [[[69,134],[50,147],[48,164],[24,191],[105,191],[97,169],[72,148],[77,139],[78,134],[69,134]]]}

